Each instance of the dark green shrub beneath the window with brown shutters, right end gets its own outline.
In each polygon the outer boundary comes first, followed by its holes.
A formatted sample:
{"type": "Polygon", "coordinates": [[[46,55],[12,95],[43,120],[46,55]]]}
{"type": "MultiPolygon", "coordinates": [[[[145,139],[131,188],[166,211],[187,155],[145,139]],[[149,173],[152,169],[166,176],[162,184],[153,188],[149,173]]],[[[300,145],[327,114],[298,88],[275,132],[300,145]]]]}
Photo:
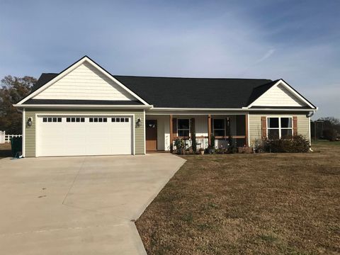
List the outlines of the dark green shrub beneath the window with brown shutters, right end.
{"type": "Polygon", "coordinates": [[[264,152],[308,152],[310,142],[302,135],[295,135],[291,138],[266,139],[261,146],[264,152]]]}

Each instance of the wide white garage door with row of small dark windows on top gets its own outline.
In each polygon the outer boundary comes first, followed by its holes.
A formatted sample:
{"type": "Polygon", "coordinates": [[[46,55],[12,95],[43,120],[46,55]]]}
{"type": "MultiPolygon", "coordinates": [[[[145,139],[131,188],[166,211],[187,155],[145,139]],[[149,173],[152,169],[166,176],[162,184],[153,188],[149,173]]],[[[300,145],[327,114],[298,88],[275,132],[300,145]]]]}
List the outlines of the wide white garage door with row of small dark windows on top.
{"type": "Polygon", "coordinates": [[[131,116],[39,116],[37,156],[133,154],[131,116]]]}

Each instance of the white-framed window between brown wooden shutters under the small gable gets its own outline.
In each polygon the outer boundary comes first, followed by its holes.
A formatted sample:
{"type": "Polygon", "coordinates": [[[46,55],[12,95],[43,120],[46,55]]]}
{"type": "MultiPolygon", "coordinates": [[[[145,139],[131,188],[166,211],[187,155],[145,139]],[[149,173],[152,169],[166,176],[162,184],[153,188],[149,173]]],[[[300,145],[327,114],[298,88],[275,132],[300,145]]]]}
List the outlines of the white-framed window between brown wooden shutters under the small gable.
{"type": "Polygon", "coordinates": [[[291,137],[293,135],[292,117],[268,117],[267,123],[269,139],[291,137]]]}

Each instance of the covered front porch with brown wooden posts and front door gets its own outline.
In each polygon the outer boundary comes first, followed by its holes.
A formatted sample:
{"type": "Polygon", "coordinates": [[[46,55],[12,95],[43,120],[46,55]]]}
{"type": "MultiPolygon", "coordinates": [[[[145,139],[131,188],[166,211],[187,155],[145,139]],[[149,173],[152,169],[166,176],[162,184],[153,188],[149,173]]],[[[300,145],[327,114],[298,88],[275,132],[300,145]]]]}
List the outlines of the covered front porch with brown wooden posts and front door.
{"type": "Polygon", "coordinates": [[[190,114],[190,115],[146,115],[146,151],[171,151],[174,141],[185,140],[187,147],[192,145],[196,135],[196,148],[227,149],[229,144],[237,147],[249,146],[248,114],[190,114]]]}

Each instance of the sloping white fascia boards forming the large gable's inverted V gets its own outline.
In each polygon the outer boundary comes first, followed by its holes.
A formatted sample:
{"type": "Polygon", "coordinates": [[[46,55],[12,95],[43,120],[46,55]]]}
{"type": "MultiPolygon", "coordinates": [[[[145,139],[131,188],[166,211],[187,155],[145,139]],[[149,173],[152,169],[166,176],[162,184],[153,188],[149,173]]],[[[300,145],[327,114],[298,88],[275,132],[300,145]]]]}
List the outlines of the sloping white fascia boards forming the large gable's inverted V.
{"type": "Polygon", "coordinates": [[[115,77],[113,77],[111,74],[109,74],[108,72],[106,72],[105,69],[103,69],[102,67],[100,67],[98,64],[96,64],[94,61],[90,60],[89,57],[83,57],[81,58],[81,60],[79,60],[78,62],[72,64],[71,67],[65,69],[63,72],[61,72],[60,74],[57,75],[57,77],[53,78],[52,80],[48,81],[47,84],[42,85],[39,89],[37,89],[36,91],[34,91],[32,94],[26,96],[26,98],[23,98],[20,102],[18,102],[16,105],[21,105],[22,103],[25,103],[26,101],[28,101],[28,99],[33,98],[34,96],[40,94],[42,91],[44,91],[45,89],[47,89],[49,86],[51,86],[52,84],[55,84],[56,81],[62,79],[62,77],[65,77],[67,74],[69,74],[69,72],[72,72],[74,69],[76,69],[77,67],[79,67],[81,64],[83,64],[84,62],[89,62],[89,64],[91,64],[93,67],[96,67],[96,69],[98,69],[99,71],[101,71],[104,75],[106,75],[106,77],[108,77],[109,79],[111,79],[112,81],[114,81],[116,84],[118,84],[118,86],[120,86],[122,89],[124,89],[125,91],[127,91],[129,94],[131,94],[132,96],[134,96],[135,98],[137,98],[139,101],[141,101],[142,103],[145,104],[145,106],[149,106],[149,103],[147,103],[146,101],[144,101],[142,98],[140,98],[140,96],[137,96],[137,94],[135,94],[134,92],[130,91],[130,89],[128,89],[126,86],[124,86],[120,81],[118,81],[117,79],[115,79],[115,77]]]}

